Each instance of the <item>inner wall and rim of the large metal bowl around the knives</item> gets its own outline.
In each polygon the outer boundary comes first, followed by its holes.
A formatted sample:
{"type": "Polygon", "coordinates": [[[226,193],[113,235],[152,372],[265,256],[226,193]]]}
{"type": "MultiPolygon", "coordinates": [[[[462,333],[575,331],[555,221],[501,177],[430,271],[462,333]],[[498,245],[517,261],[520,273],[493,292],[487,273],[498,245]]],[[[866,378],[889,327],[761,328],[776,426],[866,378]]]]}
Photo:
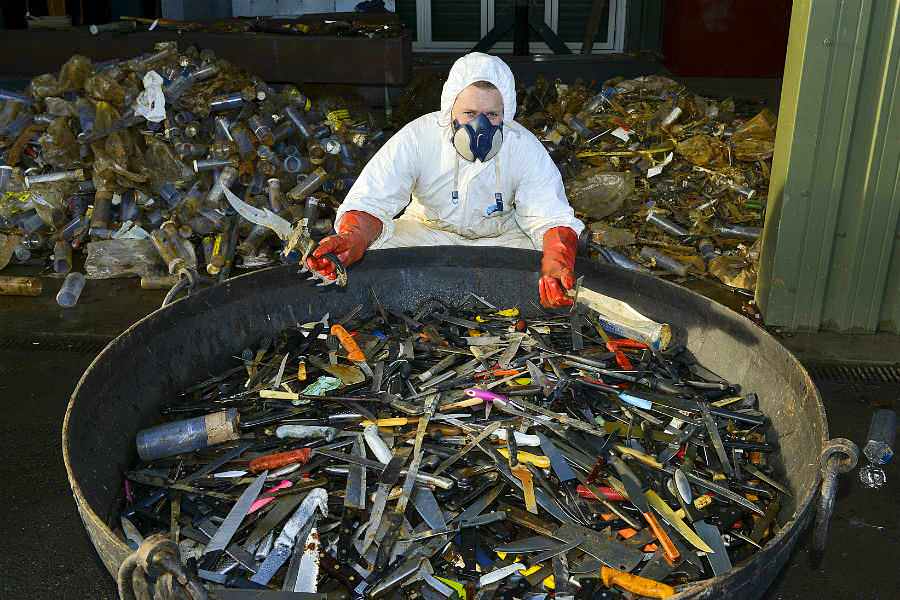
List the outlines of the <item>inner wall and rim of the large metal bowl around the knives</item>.
{"type": "MultiPolygon", "coordinates": [[[[475,292],[526,314],[537,302],[540,255],[504,248],[431,247],[369,253],[346,289],[317,288],[280,266],[237,277],[141,319],[87,369],[66,411],[63,454],[72,493],[106,568],[129,554],[110,529],[122,502],[122,473],[135,461],[135,433],[181,389],[224,370],[233,356],[266,335],[340,315],[369,302],[374,289],[388,307],[411,309],[428,297],[475,292]]],[[[819,394],[800,363],[751,321],[682,287],[617,268],[580,262],[585,285],[671,323],[702,364],[760,396],[781,447],[776,467],[790,486],[781,528],[748,561],[691,585],[680,598],[756,598],[787,561],[808,525],[820,481],[828,426],[819,394]]]]}

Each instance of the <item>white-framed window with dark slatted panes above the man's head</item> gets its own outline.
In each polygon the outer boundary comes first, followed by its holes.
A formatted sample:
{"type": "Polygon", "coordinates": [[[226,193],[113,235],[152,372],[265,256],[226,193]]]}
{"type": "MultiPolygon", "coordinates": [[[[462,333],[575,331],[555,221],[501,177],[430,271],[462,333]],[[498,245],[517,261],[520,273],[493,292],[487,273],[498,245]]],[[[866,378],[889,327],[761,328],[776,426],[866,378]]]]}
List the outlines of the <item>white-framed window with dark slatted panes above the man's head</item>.
{"type": "MultiPolygon", "coordinates": [[[[531,0],[532,11],[543,13],[544,22],[557,32],[572,52],[581,50],[584,26],[592,0],[531,0]]],[[[413,36],[413,50],[424,52],[468,50],[498,20],[512,16],[514,0],[397,0],[397,13],[413,36]]],[[[621,52],[624,47],[626,0],[609,0],[593,52],[621,52]]],[[[512,52],[512,32],[494,46],[497,52],[512,52]]],[[[548,53],[543,42],[534,41],[533,53],[548,53]]]]}

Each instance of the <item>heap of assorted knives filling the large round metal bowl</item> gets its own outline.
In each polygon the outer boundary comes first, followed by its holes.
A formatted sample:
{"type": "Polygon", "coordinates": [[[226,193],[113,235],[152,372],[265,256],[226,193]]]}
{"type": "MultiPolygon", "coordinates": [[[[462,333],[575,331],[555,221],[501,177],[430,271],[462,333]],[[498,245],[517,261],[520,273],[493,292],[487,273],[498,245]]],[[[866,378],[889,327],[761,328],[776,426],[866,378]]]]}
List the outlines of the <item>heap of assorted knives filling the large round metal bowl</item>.
{"type": "Polygon", "coordinates": [[[132,547],[170,534],[210,589],[666,598],[778,530],[758,398],[667,326],[372,297],[163,404],[125,475],[132,547]]]}

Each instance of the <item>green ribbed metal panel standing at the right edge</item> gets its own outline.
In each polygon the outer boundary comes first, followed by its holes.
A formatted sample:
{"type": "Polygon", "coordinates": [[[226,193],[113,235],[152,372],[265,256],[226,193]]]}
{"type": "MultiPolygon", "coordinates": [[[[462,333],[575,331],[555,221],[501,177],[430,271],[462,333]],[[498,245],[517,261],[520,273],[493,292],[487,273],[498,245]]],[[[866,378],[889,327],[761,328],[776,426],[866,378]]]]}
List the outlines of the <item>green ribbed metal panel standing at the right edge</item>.
{"type": "Polygon", "coordinates": [[[769,325],[900,333],[900,2],[797,0],[757,302],[769,325]]]}

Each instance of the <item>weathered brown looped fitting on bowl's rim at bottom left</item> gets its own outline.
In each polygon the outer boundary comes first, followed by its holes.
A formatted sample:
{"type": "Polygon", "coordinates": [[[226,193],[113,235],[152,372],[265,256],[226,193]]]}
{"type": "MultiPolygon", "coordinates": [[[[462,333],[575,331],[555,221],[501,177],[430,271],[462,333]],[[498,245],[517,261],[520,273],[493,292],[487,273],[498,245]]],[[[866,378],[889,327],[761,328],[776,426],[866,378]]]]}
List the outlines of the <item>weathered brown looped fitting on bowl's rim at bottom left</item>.
{"type": "Polygon", "coordinates": [[[146,538],[116,576],[122,600],[208,600],[199,580],[181,566],[178,545],[165,535],[146,538]]]}

